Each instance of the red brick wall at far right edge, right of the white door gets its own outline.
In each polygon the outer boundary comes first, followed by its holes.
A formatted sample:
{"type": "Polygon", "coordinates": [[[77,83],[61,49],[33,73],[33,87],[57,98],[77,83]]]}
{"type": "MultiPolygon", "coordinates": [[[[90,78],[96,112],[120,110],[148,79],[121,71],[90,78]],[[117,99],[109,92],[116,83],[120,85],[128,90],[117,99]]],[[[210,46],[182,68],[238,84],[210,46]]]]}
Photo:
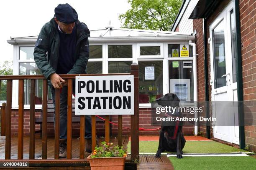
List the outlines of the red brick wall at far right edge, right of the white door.
{"type": "MultiPolygon", "coordinates": [[[[256,101],[256,1],[240,0],[243,100],[256,101]]],[[[256,106],[248,106],[256,115],[256,106]]],[[[246,144],[256,151],[256,126],[245,126],[246,144]]]]}

